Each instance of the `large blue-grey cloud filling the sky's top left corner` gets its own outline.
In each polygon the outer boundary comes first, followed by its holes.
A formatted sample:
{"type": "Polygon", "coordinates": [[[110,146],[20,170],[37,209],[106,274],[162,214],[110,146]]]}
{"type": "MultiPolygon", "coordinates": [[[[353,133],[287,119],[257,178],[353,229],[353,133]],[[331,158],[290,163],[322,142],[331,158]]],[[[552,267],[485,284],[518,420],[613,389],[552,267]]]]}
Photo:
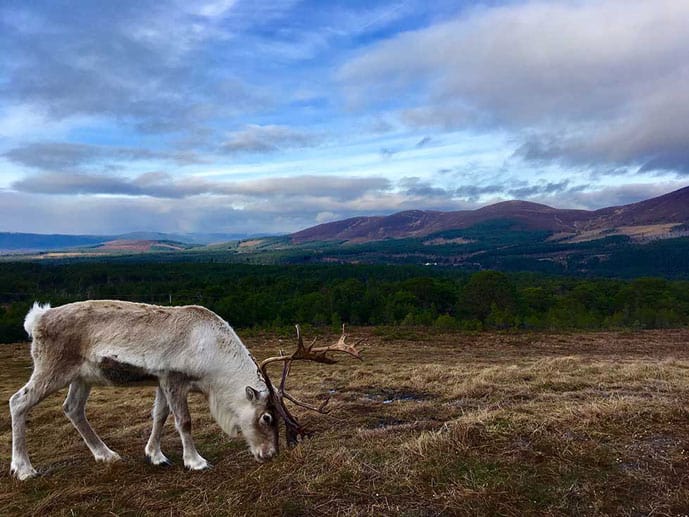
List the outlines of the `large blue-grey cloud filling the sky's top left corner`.
{"type": "Polygon", "coordinates": [[[78,17],[59,5],[8,6],[0,11],[0,96],[54,120],[104,117],[149,132],[184,133],[262,110],[267,89],[207,52],[232,39],[223,24],[233,4],[81,2],[78,17]]]}

